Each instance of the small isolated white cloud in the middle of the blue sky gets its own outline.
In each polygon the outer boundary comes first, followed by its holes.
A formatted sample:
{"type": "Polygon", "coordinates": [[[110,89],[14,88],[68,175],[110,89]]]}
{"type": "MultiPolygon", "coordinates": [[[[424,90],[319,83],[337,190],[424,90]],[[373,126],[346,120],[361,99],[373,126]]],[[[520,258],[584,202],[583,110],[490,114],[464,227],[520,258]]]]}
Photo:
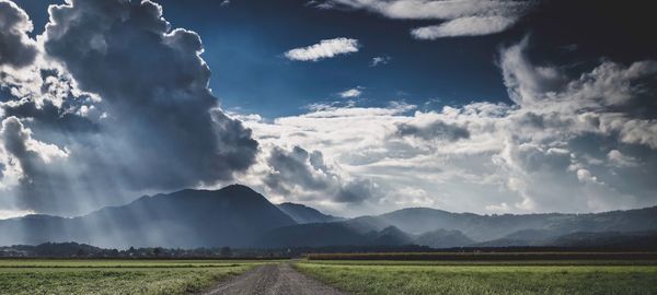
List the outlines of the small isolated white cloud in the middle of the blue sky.
{"type": "Polygon", "coordinates": [[[318,61],[321,59],[333,58],[338,55],[358,52],[360,44],[357,39],[343,37],[324,39],[308,47],[290,49],[285,52],[285,57],[289,60],[318,61]]]}

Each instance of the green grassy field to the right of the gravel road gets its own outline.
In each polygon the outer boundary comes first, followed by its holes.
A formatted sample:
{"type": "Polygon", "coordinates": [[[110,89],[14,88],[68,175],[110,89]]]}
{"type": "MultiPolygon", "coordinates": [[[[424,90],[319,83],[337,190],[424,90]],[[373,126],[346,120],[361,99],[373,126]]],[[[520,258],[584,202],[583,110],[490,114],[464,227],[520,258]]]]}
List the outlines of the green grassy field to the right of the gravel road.
{"type": "Polygon", "coordinates": [[[351,294],[657,294],[657,267],[646,261],[303,261],[296,268],[351,294]]]}

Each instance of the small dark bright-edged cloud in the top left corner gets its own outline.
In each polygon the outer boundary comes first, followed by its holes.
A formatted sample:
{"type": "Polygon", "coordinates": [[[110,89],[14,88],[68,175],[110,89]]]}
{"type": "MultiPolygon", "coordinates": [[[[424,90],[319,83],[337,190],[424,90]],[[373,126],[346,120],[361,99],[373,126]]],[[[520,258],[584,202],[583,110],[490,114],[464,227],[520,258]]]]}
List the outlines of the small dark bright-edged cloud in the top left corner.
{"type": "Polygon", "coordinates": [[[0,0],[0,66],[24,67],[34,61],[37,49],[27,37],[32,22],[16,4],[0,0]]]}

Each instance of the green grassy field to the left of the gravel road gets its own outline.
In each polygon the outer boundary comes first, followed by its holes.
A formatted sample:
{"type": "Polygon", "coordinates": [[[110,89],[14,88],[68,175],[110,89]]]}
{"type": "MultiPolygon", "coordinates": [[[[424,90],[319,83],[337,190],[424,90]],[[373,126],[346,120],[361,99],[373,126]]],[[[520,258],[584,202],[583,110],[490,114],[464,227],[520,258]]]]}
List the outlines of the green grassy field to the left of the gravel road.
{"type": "Polygon", "coordinates": [[[0,294],[187,294],[264,262],[0,260],[0,294]]]}

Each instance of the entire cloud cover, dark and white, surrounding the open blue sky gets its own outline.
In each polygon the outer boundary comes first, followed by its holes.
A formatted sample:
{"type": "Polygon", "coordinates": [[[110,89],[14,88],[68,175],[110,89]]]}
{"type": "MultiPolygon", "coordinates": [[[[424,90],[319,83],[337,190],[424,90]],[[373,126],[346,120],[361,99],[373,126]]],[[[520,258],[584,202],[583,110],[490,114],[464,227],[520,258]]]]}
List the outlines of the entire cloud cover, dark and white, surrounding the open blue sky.
{"type": "MultiPolygon", "coordinates": [[[[419,38],[493,34],[531,8],[331,2],[442,21],[415,30],[419,38]]],[[[53,5],[34,39],[24,11],[7,0],[0,8],[0,216],[79,214],[234,179],[275,202],[343,215],[402,206],[503,213],[657,204],[654,60],[601,60],[572,73],[531,62],[523,39],[498,55],[511,104],[423,109],[339,99],[267,120],[221,110],[207,86],[199,36],[172,28],[153,2],[53,5]]],[[[337,38],[286,57],[316,61],[358,48],[356,39],[337,38]]]]}

